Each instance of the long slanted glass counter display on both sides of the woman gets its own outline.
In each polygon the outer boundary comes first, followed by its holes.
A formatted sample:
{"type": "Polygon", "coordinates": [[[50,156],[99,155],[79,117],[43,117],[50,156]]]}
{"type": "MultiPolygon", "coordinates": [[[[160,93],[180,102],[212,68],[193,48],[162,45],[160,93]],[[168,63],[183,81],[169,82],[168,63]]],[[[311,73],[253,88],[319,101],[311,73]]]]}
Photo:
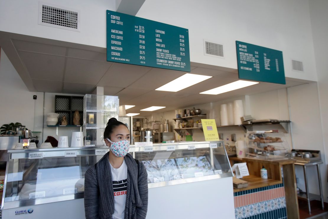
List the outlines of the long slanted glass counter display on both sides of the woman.
{"type": "MultiPolygon", "coordinates": [[[[8,151],[2,209],[83,198],[85,172],[108,150],[90,146],[8,151]]],[[[232,177],[223,142],[131,145],[129,152],[145,165],[149,188],[232,177]]]]}

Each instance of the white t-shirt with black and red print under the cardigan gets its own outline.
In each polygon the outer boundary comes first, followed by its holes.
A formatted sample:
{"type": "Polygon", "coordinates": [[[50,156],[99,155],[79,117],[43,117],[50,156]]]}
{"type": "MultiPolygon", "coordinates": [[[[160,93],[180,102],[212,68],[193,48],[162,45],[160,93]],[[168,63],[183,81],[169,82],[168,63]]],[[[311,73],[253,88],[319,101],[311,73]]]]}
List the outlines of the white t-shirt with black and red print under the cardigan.
{"type": "Polygon", "coordinates": [[[124,160],[122,165],[117,169],[115,169],[111,163],[109,164],[111,166],[114,190],[114,214],[112,218],[124,219],[128,167],[124,160]]]}

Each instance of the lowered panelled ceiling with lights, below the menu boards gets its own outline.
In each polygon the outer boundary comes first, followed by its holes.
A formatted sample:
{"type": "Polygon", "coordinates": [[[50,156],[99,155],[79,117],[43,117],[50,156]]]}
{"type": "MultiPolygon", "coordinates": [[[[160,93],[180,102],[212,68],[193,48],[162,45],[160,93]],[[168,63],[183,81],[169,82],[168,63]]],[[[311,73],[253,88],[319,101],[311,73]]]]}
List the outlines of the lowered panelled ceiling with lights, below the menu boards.
{"type": "Polygon", "coordinates": [[[219,95],[200,92],[238,80],[236,69],[192,63],[191,73],[213,76],[178,92],[155,89],[186,72],[106,61],[106,48],[92,47],[14,33],[0,32],[0,46],[30,91],[90,94],[96,86],[104,95],[118,96],[120,104],[136,105],[127,113],[150,106],[166,106],[165,112],[195,104],[253,95],[306,83],[287,79],[286,85],[259,84],[219,95]]]}

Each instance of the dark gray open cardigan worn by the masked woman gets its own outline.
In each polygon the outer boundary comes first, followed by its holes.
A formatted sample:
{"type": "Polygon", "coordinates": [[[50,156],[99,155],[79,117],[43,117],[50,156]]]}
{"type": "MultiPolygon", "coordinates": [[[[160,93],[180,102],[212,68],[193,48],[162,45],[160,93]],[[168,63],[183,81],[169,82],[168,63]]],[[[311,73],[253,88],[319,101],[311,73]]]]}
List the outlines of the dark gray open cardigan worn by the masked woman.
{"type": "MultiPolygon", "coordinates": [[[[85,173],[84,209],[86,219],[112,219],[114,194],[108,153],[85,173]]],[[[124,157],[128,167],[127,195],[124,219],[144,219],[148,207],[147,171],[142,162],[137,163],[131,154],[124,157]],[[139,177],[138,177],[139,173],[139,177]]]]}

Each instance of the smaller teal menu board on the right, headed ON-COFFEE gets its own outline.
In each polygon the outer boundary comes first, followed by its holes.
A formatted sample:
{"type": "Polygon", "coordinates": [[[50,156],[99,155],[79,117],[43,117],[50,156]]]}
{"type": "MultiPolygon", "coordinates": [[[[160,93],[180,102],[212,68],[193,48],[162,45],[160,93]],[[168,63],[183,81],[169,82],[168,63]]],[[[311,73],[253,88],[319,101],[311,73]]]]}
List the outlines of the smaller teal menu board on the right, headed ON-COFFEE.
{"type": "Polygon", "coordinates": [[[286,84],[282,52],[236,41],[239,79],[286,84]]]}

